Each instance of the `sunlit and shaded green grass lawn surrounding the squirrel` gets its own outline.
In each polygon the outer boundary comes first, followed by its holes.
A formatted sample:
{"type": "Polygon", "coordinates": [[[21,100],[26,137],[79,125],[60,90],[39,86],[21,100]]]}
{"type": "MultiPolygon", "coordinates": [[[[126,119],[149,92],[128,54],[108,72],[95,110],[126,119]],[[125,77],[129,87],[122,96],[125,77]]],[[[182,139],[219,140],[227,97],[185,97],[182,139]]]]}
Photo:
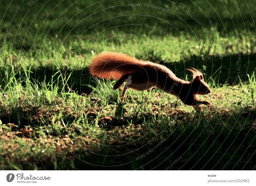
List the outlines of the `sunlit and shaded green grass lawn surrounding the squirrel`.
{"type": "Polygon", "coordinates": [[[255,169],[253,2],[237,0],[237,12],[232,1],[184,1],[198,25],[177,2],[147,2],[170,10],[161,12],[77,1],[45,38],[73,2],[0,2],[1,170],[255,169]],[[200,98],[212,106],[203,116],[158,89],[129,89],[122,104],[115,81],[89,74],[101,51],[164,64],[184,80],[195,67],[212,90],[200,98]]]}

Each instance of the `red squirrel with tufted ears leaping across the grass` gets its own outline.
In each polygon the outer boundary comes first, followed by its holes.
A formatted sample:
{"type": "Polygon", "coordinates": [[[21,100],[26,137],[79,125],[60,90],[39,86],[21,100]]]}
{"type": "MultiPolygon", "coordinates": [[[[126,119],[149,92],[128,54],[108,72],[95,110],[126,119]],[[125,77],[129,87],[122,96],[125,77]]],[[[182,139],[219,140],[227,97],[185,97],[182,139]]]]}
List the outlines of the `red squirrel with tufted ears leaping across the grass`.
{"type": "Polygon", "coordinates": [[[198,95],[209,94],[211,91],[204,82],[203,74],[195,68],[187,68],[193,73],[193,79],[184,81],[163,65],[141,61],[122,53],[102,52],[92,59],[89,70],[93,76],[116,79],[114,90],[126,81],[121,95],[122,102],[129,88],[141,91],[156,87],[179,97],[184,104],[192,106],[197,112],[203,111],[200,104],[210,104],[198,99],[198,95]],[[199,106],[199,110],[196,109],[196,105],[199,106]]]}

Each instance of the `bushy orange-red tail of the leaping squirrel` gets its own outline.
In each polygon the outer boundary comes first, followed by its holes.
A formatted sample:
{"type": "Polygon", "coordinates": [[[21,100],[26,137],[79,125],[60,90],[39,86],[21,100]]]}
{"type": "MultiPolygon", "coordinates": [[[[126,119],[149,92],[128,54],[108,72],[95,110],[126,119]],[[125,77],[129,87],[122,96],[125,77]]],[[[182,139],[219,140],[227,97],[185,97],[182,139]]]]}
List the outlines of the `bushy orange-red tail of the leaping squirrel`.
{"type": "Polygon", "coordinates": [[[143,62],[126,54],[102,52],[92,59],[90,73],[99,78],[119,80],[125,74],[136,72],[143,62]]]}

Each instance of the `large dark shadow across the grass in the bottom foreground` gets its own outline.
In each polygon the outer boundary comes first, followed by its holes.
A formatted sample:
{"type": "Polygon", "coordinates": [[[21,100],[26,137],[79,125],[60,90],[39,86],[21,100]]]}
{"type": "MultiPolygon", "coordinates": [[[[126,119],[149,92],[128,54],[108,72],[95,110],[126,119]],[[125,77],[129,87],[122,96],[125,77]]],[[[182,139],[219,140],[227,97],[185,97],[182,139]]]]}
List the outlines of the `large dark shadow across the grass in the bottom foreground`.
{"type": "MultiPolygon", "coordinates": [[[[238,115],[234,117],[237,119],[238,115]]],[[[244,118],[246,120],[255,120],[255,116],[244,118]]],[[[116,143],[101,141],[101,145],[95,144],[92,151],[83,147],[72,151],[64,149],[54,156],[62,170],[164,170],[168,167],[170,170],[252,170],[256,165],[256,139],[251,126],[235,125],[232,128],[222,123],[203,126],[203,122],[196,126],[186,120],[172,133],[157,131],[159,136],[152,137],[143,130],[140,131],[143,134],[132,139],[128,135],[117,136],[116,143]],[[157,146],[163,139],[166,141],[157,146]],[[154,151],[147,153],[151,149],[154,151]],[[79,157],[75,157],[77,154],[79,157]]],[[[33,163],[38,161],[38,167],[42,168],[42,163],[52,170],[56,165],[50,156],[49,161],[39,162],[37,159],[33,163]]],[[[28,165],[28,162],[21,162],[21,166],[28,165]]]]}

